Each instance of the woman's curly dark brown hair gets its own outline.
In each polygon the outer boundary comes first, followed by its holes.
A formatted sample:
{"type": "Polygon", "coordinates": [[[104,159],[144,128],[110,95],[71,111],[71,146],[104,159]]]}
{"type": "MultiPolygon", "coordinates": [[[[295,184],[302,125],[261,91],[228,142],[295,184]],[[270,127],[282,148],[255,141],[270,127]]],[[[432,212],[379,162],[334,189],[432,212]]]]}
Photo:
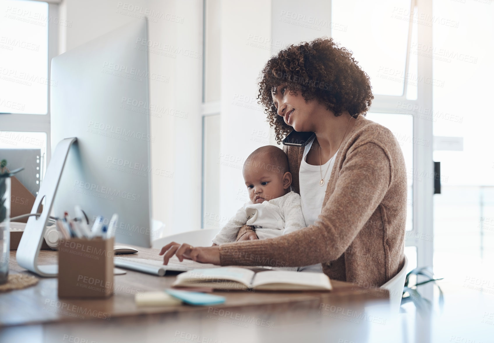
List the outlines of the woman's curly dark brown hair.
{"type": "Polygon", "coordinates": [[[271,94],[275,87],[284,85],[294,94],[300,91],[306,103],[316,98],[335,116],[344,111],[353,117],[365,115],[374,99],[367,73],[352,52],[338,47],[332,38],[291,44],[266,63],[260,79],[258,103],[265,107],[269,126],[275,127],[278,144],[293,128],[274,106],[271,94]]]}

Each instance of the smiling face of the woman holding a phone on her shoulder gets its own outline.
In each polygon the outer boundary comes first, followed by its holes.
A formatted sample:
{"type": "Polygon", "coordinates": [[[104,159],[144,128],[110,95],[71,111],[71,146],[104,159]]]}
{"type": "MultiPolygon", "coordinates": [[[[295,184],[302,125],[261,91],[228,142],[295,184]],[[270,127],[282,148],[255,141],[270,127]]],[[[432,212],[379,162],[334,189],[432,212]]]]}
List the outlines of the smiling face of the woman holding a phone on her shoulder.
{"type": "Polygon", "coordinates": [[[317,119],[314,114],[321,109],[326,110],[316,99],[306,103],[300,94],[289,91],[283,84],[273,88],[271,96],[278,115],[284,117],[285,123],[298,132],[314,132],[317,119]]]}

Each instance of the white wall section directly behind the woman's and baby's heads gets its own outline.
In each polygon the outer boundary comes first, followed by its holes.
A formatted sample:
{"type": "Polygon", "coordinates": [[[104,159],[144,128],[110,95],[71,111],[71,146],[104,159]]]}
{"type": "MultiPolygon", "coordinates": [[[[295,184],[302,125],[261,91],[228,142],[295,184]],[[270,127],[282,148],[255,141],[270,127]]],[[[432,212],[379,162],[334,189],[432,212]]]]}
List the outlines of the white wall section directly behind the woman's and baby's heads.
{"type": "Polygon", "coordinates": [[[329,37],[330,7],[324,0],[222,1],[219,224],[248,201],[242,177],[247,156],[276,145],[274,128],[255,99],[260,71],[289,44],[329,37]],[[318,25],[311,24],[315,18],[318,25]]]}

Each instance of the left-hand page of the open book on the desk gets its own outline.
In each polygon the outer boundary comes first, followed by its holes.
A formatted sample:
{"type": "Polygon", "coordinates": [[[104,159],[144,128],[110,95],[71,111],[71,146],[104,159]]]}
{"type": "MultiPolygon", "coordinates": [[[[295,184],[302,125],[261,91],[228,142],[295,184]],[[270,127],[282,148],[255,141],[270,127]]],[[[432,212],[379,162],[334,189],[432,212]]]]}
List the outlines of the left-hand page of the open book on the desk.
{"type": "Polygon", "coordinates": [[[208,287],[226,288],[225,283],[223,282],[226,280],[235,281],[249,287],[254,274],[255,273],[252,270],[241,267],[193,269],[178,275],[177,280],[173,283],[173,286],[197,286],[199,284],[206,286],[206,283],[208,283],[211,284],[208,287]],[[221,287],[214,287],[215,283],[221,287]]]}

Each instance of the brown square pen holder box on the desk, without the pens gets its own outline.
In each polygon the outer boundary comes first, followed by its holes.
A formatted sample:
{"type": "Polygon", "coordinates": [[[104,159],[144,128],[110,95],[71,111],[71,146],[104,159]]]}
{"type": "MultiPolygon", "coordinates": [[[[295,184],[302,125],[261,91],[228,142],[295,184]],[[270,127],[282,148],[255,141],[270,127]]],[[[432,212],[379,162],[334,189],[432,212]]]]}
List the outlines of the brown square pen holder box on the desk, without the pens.
{"type": "Polygon", "coordinates": [[[71,238],[58,248],[58,298],[113,295],[114,238],[71,238]]]}

